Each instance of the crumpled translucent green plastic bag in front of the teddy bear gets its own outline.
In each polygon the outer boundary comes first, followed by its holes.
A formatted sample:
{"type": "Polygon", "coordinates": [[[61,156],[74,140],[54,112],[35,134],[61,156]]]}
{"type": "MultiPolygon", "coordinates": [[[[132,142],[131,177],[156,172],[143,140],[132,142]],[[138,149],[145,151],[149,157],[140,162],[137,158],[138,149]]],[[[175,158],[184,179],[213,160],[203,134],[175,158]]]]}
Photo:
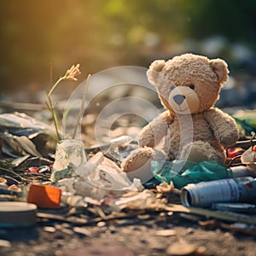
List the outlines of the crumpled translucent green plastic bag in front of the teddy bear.
{"type": "Polygon", "coordinates": [[[160,182],[173,182],[177,189],[189,183],[200,183],[232,177],[232,172],[217,161],[194,163],[184,160],[151,161],[151,172],[160,182]]]}

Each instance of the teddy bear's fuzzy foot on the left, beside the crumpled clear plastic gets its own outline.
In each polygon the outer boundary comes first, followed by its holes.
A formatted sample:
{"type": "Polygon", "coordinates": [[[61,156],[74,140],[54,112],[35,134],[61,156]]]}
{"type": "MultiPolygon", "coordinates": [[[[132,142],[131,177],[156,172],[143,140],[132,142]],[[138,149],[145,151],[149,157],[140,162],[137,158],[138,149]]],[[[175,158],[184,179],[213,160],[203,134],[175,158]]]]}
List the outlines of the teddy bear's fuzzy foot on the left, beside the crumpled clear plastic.
{"type": "MultiPolygon", "coordinates": [[[[138,148],[131,152],[121,165],[123,172],[134,172],[138,169],[149,169],[150,158],[154,153],[153,148],[138,148]]],[[[149,169],[150,170],[150,169],[149,169]]]]}

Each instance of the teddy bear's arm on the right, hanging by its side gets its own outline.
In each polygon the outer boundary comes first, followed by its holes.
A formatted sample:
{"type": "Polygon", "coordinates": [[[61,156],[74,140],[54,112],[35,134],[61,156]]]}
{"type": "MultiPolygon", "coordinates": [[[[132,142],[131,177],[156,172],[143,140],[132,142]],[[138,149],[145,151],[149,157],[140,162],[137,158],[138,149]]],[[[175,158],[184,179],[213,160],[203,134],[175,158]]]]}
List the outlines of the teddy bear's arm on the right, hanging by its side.
{"type": "Polygon", "coordinates": [[[215,137],[224,148],[234,145],[239,139],[236,121],[229,114],[218,108],[211,108],[205,114],[207,123],[211,126],[215,137]]]}

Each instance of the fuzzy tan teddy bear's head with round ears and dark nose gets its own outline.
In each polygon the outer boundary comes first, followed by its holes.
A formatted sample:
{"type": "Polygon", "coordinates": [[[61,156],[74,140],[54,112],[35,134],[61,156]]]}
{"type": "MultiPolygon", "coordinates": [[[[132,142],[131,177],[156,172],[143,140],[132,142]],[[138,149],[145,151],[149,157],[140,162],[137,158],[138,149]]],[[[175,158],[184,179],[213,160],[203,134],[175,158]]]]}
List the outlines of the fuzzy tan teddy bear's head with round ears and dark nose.
{"type": "Polygon", "coordinates": [[[147,72],[164,107],[172,113],[200,113],[218,100],[228,79],[228,67],[220,59],[184,54],[169,61],[154,61],[147,72]]]}

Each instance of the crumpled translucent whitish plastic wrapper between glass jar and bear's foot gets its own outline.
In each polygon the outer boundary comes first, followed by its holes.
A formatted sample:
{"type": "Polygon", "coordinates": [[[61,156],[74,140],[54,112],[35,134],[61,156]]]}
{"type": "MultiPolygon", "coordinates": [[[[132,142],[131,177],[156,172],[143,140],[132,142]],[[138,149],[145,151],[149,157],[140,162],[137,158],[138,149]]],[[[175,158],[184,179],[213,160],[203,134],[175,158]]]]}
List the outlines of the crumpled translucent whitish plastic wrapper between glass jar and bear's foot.
{"type": "Polygon", "coordinates": [[[73,195],[90,196],[101,200],[106,195],[122,195],[127,191],[143,189],[139,179],[133,182],[112,160],[101,152],[76,169],[77,177],[64,178],[58,183],[73,195]]]}

